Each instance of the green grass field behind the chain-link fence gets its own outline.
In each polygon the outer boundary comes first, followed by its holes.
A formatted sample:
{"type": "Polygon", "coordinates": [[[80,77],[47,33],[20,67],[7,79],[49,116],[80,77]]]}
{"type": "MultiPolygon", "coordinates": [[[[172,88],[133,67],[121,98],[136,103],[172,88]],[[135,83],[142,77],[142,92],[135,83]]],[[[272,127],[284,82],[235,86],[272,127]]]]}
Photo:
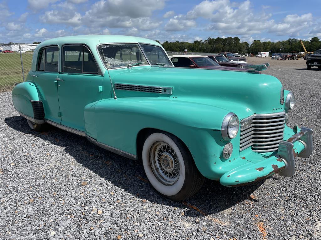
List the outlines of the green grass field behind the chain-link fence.
{"type": "MultiPolygon", "coordinates": [[[[31,68],[32,53],[22,53],[25,76],[31,68]]],[[[14,84],[21,83],[22,70],[19,53],[0,53],[0,92],[9,91],[14,84]]]]}

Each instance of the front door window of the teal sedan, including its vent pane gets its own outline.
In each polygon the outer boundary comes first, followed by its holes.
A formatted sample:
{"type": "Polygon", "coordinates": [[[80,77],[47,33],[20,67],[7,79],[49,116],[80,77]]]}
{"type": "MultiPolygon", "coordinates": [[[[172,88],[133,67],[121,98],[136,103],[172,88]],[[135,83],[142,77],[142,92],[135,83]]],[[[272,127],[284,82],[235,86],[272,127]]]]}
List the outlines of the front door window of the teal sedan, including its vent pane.
{"type": "Polygon", "coordinates": [[[91,52],[82,45],[71,45],[63,48],[62,70],[65,73],[98,73],[98,67],[91,52]]]}

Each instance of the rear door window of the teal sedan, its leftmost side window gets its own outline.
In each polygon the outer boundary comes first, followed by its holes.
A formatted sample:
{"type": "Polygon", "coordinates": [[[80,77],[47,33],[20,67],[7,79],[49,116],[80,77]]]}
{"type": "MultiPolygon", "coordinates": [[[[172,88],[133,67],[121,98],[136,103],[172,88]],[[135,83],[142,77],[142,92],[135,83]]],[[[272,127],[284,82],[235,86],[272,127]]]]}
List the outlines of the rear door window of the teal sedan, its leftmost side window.
{"type": "Polygon", "coordinates": [[[38,71],[58,72],[59,49],[47,47],[41,50],[38,71]]]}

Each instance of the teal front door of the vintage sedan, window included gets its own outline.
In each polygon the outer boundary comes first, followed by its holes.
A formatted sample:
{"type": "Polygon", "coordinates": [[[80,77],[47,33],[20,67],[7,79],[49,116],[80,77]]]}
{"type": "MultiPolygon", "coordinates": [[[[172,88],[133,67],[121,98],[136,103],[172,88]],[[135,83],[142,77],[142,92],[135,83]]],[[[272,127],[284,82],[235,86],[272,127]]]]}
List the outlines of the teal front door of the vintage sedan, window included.
{"type": "Polygon", "coordinates": [[[103,76],[87,46],[64,45],[61,55],[57,79],[61,124],[84,132],[84,107],[102,99],[103,76]]]}

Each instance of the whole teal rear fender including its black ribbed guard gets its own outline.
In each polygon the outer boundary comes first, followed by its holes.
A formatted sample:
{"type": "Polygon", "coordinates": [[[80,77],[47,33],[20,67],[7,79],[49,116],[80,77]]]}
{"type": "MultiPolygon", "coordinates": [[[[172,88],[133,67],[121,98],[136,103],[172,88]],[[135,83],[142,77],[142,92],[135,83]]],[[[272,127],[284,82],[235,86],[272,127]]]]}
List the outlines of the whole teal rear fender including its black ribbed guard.
{"type": "Polygon", "coordinates": [[[44,111],[41,97],[32,82],[23,82],[12,90],[14,108],[23,115],[35,119],[43,119],[44,111]]]}

